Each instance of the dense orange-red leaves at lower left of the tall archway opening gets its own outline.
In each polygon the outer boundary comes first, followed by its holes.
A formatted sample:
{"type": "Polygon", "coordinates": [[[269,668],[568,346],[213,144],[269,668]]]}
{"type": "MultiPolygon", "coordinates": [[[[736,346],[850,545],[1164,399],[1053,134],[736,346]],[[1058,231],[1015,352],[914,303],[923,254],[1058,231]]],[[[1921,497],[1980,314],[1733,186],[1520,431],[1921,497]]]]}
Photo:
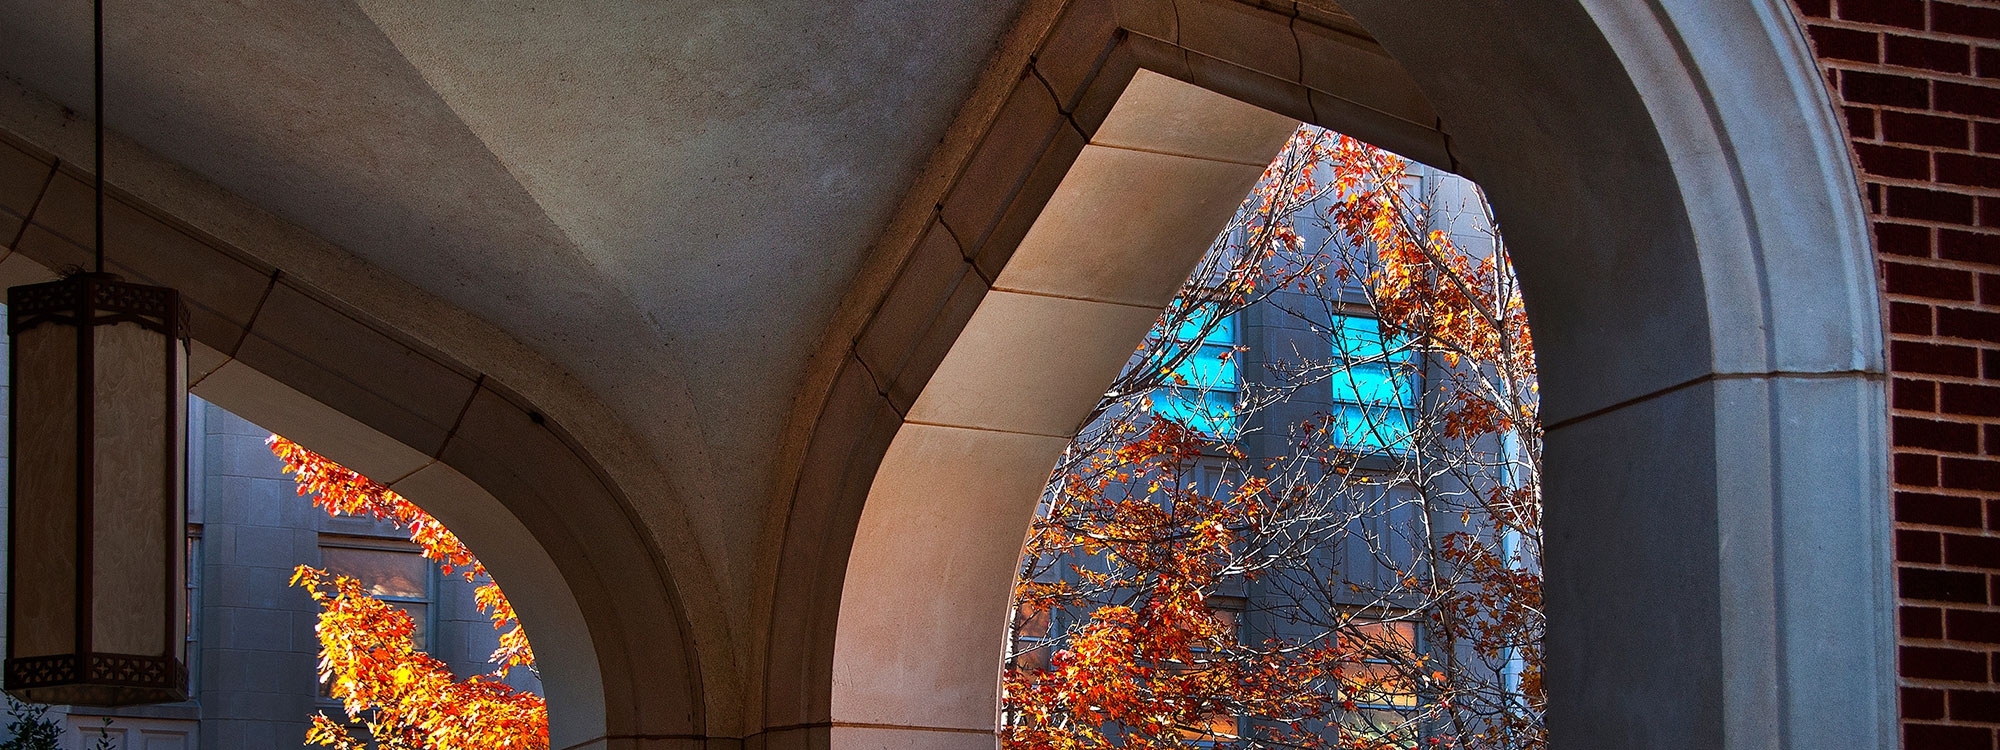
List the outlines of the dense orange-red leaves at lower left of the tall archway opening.
{"type": "MultiPolygon", "coordinates": [[[[1332,698],[1304,686],[1338,678],[1338,644],[1240,648],[1236,624],[1208,606],[1264,488],[1246,482],[1218,498],[1188,486],[1202,444],[1172,420],[1150,420],[1104,458],[1116,470],[1062,478],[1030,554],[1062,550],[1118,564],[1080,564],[1072,580],[1022,580],[1020,620],[1046,622],[1050,610],[1112,590],[1132,596],[1090,610],[1040,660],[1016,656],[1004,684],[1008,746],[1174,748],[1230,738],[1232,730],[1214,732],[1222,716],[1304,722],[1328,712],[1332,698]],[[1130,486],[1146,492],[1118,492],[1130,486]]],[[[1016,632],[1024,626],[1016,622],[1016,632]]]]}

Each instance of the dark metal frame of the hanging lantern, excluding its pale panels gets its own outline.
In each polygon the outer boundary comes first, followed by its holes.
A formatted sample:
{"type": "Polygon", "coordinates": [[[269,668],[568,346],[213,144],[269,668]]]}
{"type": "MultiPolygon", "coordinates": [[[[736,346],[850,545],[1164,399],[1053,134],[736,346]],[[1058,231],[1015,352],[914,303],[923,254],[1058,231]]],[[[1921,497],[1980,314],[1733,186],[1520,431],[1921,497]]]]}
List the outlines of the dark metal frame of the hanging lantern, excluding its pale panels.
{"type": "MultiPolygon", "coordinates": [[[[88,706],[128,706],[178,702],[188,698],[186,668],[186,602],[180,596],[186,576],[186,380],[182,368],[188,356],[188,310],[180,292],[162,286],[128,284],[114,274],[78,272],[68,278],[14,286],[8,290],[8,348],[10,348],[10,388],[8,410],[22,414],[18,402],[20,380],[20,334],[38,326],[76,328],[76,578],[74,578],[74,642],[70,654],[16,656],[20,638],[20,592],[22,592],[22,544],[18,538],[8,544],[8,646],[6,646],[6,692],[32,702],[88,704],[88,706]],[[100,326],[138,324],[162,336],[160,366],[166,370],[166,388],[160,394],[168,418],[160,448],[166,460],[164,474],[162,530],[166,538],[162,560],[162,610],[164,620],[158,654],[100,652],[94,642],[96,620],[96,330],[100,326]],[[176,352],[178,350],[178,352],[176,352]],[[178,418],[172,418],[176,416],[178,418]]],[[[8,442],[22,444],[20,418],[8,420],[8,442]]],[[[34,436],[26,436],[34,438],[34,436]]],[[[8,526],[20,532],[18,516],[22,496],[20,456],[8,460],[8,526]]],[[[38,498],[28,498],[38,500],[38,498]]],[[[46,502],[46,498],[40,498],[46,502]]]]}

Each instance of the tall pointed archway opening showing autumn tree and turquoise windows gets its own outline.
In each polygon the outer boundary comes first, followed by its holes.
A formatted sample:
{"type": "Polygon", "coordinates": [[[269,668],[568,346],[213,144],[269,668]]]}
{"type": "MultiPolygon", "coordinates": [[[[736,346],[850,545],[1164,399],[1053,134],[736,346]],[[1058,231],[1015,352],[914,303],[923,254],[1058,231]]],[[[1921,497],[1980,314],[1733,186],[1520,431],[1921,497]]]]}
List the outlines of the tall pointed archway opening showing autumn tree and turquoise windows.
{"type": "Polygon", "coordinates": [[[1284,146],[1050,478],[1010,748],[1542,746],[1534,352],[1472,198],[1284,146]],[[1228,382],[1252,306],[1294,350],[1228,382]]]}

